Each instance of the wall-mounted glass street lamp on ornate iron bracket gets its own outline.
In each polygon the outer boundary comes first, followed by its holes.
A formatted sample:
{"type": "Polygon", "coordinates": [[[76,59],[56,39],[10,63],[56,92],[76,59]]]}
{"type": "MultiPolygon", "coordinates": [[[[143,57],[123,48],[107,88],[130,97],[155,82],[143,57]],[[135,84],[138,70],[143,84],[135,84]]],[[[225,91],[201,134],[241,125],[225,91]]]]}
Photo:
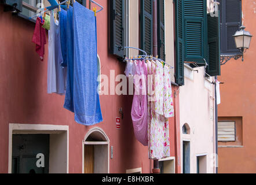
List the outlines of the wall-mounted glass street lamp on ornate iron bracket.
{"type": "Polygon", "coordinates": [[[251,37],[253,35],[250,34],[250,32],[245,31],[246,27],[242,25],[240,27],[239,31],[236,31],[235,35],[233,35],[233,38],[235,39],[236,48],[240,50],[242,55],[236,55],[236,56],[221,56],[221,65],[226,64],[231,58],[234,58],[235,60],[242,57],[242,62],[244,61],[244,52],[249,49],[250,43],[251,43],[251,37]]]}

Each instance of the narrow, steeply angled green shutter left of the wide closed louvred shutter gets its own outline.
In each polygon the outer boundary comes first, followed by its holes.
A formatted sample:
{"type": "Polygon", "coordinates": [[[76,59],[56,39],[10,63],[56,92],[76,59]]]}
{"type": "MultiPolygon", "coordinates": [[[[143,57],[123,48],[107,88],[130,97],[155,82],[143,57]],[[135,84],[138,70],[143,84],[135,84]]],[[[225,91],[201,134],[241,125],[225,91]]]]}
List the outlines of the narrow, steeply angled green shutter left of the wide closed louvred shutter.
{"type": "Polygon", "coordinates": [[[175,0],[175,82],[184,85],[184,25],[182,0],[175,0]]]}

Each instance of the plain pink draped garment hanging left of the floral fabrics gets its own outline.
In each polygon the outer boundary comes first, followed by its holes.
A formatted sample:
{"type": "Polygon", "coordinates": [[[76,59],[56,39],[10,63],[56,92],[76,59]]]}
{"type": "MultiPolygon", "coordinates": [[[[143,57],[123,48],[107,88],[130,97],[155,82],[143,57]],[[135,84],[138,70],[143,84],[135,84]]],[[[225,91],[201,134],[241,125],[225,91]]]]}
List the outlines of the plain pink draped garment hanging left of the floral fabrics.
{"type": "Polygon", "coordinates": [[[131,119],[133,120],[134,135],[142,145],[148,145],[148,109],[147,109],[147,66],[144,61],[134,64],[133,105],[131,119]],[[137,91],[137,93],[136,93],[137,91]],[[145,93],[146,92],[146,93],[145,93]]]}

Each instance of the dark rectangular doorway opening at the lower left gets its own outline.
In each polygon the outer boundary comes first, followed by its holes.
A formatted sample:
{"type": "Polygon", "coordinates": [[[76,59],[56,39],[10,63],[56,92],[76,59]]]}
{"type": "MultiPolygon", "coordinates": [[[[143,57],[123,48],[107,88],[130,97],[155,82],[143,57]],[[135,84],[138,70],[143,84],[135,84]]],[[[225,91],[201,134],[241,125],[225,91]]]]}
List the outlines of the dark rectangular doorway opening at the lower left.
{"type": "Polygon", "coordinates": [[[49,173],[49,140],[49,134],[13,134],[12,173],[49,173]]]}

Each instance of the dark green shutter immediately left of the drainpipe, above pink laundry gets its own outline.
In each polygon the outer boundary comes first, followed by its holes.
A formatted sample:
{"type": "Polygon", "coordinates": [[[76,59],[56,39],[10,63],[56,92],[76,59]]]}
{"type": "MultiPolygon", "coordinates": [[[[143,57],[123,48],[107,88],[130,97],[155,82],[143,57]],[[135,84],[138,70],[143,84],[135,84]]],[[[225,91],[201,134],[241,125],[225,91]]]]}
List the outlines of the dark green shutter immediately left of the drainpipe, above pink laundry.
{"type": "Polygon", "coordinates": [[[148,55],[153,53],[153,0],[140,1],[141,49],[148,55]]]}

